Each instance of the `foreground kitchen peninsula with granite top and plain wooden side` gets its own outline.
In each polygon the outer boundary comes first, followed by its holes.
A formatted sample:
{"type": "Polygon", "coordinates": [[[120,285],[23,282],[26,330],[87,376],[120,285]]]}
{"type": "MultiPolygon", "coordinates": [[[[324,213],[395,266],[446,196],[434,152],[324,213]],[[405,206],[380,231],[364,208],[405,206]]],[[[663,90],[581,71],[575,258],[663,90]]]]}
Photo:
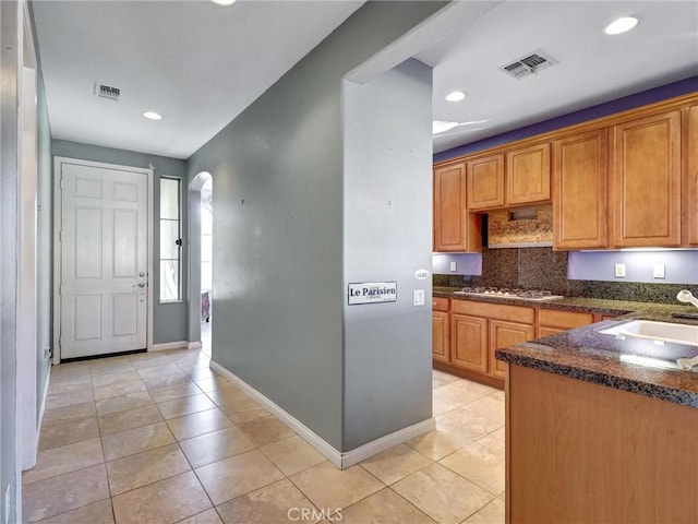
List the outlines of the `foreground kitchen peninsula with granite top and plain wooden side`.
{"type": "MultiPolygon", "coordinates": [[[[671,317],[679,309],[623,319],[698,324],[671,317]]],[[[654,367],[698,346],[600,333],[614,323],[495,352],[506,362],[508,523],[698,519],[698,368],[654,367]]]]}

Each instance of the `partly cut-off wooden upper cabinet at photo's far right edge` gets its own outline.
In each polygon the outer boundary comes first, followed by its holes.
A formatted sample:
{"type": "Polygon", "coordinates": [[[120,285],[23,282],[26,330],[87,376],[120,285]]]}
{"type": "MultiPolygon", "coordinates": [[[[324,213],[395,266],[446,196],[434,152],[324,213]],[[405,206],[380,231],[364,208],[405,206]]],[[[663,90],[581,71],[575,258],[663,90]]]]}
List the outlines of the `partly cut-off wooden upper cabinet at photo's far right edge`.
{"type": "Polygon", "coordinates": [[[685,110],[684,245],[698,246],[698,105],[685,110]]]}

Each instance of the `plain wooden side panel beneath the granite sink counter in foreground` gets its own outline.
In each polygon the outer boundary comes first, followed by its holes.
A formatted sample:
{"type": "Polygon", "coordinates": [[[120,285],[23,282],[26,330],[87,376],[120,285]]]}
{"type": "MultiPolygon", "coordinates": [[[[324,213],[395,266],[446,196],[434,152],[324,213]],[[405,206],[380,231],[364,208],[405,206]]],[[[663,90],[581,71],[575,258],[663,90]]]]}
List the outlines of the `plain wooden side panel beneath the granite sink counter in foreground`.
{"type": "Polygon", "coordinates": [[[698,409],[508,365],[507,523],[689,523],[698,409]]]}

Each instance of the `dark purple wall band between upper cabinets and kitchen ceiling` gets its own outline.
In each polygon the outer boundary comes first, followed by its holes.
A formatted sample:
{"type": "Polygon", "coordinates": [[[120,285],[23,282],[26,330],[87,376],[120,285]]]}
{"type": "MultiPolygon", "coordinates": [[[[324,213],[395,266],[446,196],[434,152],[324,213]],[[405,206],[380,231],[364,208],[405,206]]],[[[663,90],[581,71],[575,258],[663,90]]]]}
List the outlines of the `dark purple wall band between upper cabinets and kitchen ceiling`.
{"type": "Polygon", "coordinates": [[[537,134],[546,133],[559,128],[566,128],[567,126],[574,126],[576,123],[593,120],[594,118],[601,118],[615,112],[622,112],[635,107],[646,106],[655,102],[665,100],[675,96],[685,95],[698,91],[698,76],[691,76],[689,79],[681,80],[671,84],[647,90],[635,95],[625,96],[615,100],[591,106],[586,109],[580,109],[562,117],[552,118],[539,123],[519,128],[514,131],[490,136],[489,139],[479,140],[469,144],[459,145],[450,150],[442,151],[434,154],[434,162],[443,162],[449,158],[456,158],[458,156],[468,155],[478,151],[503,145],[508,142],[515,142],[517,140],[527,139],[537,134]]]}

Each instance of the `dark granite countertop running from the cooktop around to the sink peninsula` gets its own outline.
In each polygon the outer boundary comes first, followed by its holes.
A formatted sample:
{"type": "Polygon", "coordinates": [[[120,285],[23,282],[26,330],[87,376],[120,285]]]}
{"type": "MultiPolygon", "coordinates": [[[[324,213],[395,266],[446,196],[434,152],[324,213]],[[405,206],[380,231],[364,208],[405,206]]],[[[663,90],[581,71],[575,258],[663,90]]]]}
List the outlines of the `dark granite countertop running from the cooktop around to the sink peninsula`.
{"type": "MultiPolygon", "coordinates": [[[[515,303],[534,308],[618,314],[606,320],[564,333],[545,336],[497,349],[496,358],[510,364],[540,369],[587,382],[592,382],[640,395],[661,398],[698,408],[698,367],[693,371],[670,370],[637,364],[636,357],[675,362],[677,358],[698,356],[698,346],[683,344],[658,345],[640,338],[616,338],[599,333],[627,319],[698,325],[698,319],[673,318],[676,311],[696,313],[694,307],[676,303],[633,302],[595,298],[568,297],[551,302],[529,302],[494,297],[454,295],[453,288],[434,288],[434,296],[454,299],[515,303]],[[633,361],[628,361],[633,360],[633,361]]],[[[641,360],[641,358],[640,358],[641,360]]]]}

